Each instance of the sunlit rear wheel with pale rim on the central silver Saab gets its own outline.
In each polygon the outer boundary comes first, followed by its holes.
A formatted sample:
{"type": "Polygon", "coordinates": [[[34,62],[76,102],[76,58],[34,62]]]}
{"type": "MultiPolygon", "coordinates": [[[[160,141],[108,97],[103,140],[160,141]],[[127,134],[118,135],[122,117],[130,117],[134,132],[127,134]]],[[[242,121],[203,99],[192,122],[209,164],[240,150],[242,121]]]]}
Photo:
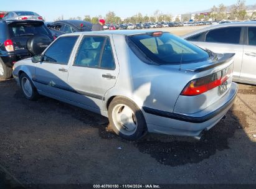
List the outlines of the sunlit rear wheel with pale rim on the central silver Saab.
{"type": "Polygon", "coordinates": [[[115,133],[135,141],[147,133],[146,121],[140,108],[127,98],[115,97],[108,107],[108,119],[115,133]]]}

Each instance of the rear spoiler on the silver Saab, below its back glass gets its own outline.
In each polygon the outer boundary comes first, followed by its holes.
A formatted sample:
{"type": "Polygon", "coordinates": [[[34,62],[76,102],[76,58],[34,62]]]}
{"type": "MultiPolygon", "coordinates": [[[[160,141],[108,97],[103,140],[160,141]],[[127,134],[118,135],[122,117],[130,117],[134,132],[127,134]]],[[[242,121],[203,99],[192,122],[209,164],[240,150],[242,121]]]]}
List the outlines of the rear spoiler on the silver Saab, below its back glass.
{"type": "Polygon", "coordinates": [[[193,71],[193,72],[200,72],[200,71],[206,71],[206,70],[211,70],[212,68],[219,67],[220,65],[230,62],[232,58],[234,58],[235,53],[224,53],[224,56],[222,58],[219,58],[216,60],[216,62],[213,62],[211,64],[206,64],[203,65],[202,67],[196,67],[194,70],[189,69],[187,71],[193,71]]]}

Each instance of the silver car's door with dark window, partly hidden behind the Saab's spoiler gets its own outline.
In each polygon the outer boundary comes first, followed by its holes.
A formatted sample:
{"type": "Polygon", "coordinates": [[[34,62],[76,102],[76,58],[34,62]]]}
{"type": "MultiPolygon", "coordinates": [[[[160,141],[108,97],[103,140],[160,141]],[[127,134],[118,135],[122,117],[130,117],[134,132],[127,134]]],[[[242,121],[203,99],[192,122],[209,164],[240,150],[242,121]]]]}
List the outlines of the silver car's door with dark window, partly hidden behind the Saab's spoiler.
{"type": "Polygon", "coordinates": [[[235,53],[233,78],[240,77],[244,53],[244,32],[242,27],[222,27],[188,37],[194,44],[216,53],[235,53]]]}

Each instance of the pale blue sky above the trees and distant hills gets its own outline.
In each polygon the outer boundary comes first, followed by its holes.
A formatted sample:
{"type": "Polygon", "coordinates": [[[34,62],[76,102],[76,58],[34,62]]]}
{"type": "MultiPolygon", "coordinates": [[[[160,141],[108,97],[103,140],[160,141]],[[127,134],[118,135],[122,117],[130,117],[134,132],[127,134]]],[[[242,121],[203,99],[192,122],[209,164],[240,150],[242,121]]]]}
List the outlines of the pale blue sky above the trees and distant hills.
{"type": "MultiPolygon", "coordinates": [[[[141,12],[148,16],[153,15],[156,9],[164,14],[184,14],[187,12],[201,11],[209,9],[214,5],[224,3],[226,6],[235,4],[236,0],[98,0],[98,1],[78,1],[78,0],[7,0],[0,4],[0,11],[34,11],[45,17],[46,21],[53,21],[57,17],[84,17],[85,15],[98,16],[108,11],[114,11],[116,16],[126,18],[141,12]]],[[[247,5],[256,4],[255,0],[247,0],[247,5]]]]}

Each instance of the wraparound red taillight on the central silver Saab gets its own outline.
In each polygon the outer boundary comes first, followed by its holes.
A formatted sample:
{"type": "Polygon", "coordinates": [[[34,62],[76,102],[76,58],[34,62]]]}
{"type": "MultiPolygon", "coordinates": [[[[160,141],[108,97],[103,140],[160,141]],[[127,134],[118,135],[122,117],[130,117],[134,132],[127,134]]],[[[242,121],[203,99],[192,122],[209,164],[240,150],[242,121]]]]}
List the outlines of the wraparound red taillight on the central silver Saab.
{"type": "Polygon", "coordinates": [[[184,88],[181,95],[184,96],[196,96],[206,91],[212,90],[217,86],[222,85],[232,75],[232,67],[225,68],[212,75],[205,76],[203,78],[197,78],[196,80],[190,81],[184,88]]]}

